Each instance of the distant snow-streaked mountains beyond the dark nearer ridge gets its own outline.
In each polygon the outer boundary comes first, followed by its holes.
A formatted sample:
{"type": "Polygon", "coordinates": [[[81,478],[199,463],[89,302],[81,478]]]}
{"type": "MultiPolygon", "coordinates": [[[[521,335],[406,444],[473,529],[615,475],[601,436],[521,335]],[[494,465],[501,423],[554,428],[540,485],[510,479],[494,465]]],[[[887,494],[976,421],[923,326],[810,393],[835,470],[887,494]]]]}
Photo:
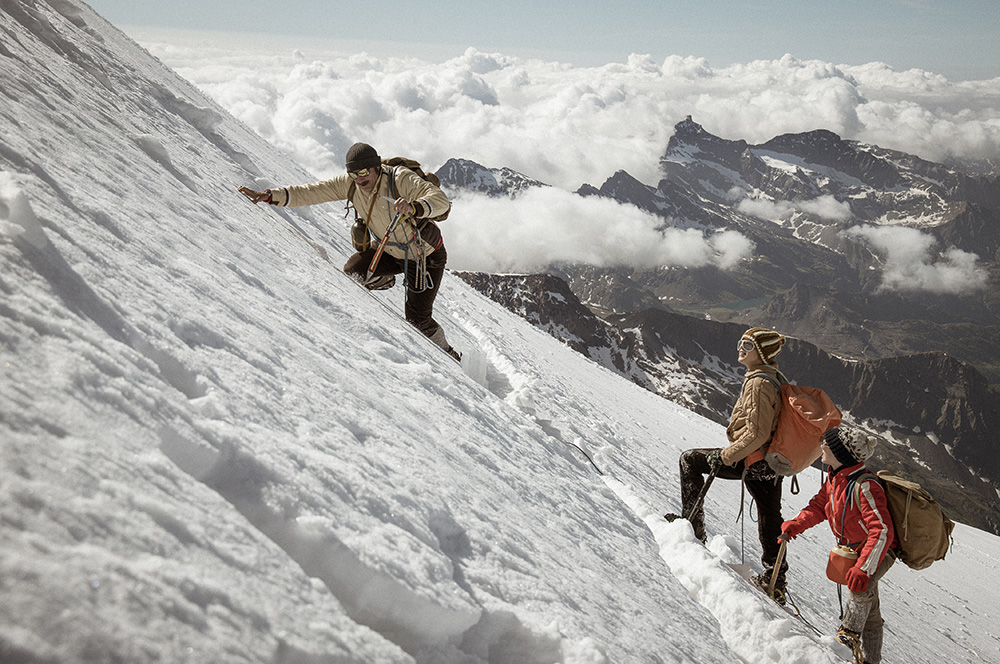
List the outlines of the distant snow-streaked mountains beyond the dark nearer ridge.
{"type": "MultiPolygon", "coordinates": [[[[726,271],[554,268],[595,313],[663,308],[767,321],[856,358],[942,351],[1000,383],[995,173],[966,174],[829,131],[753,146],[713,136],[690,118],[676,126],[660,163],[664,177],[655,187],[620,171],[600,188],[584,185],[577,193],[638,206],[661,217],[664,228],[738,231],[753,241],[754,255],[726,271]],[[752,214],[760,209],[781,213],[752,214]],[[983,279],[967,289],[906,290],[905,279],[902,289],[883,289],[885,252],[844,233],[864,226],[917,229],[939,249],[975,254],[983,279]]],[[[493,196],[544,186],[464,160],[449,161],[438,174],[449,189],[493,196]]]]}

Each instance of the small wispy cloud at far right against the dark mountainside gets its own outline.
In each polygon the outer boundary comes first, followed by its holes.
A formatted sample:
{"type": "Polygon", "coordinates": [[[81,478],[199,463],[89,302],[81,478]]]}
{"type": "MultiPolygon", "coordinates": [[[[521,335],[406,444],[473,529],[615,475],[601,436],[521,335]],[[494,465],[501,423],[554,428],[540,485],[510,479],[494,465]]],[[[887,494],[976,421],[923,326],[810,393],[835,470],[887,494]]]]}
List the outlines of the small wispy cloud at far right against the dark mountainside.
{"type": "Polygon", "coordinates": [[[959,294],[985,288],[989,275],[978,267],[979,257],[950,247],[934,257],[935,238],[903,226],[855,226],[843,232],[884,256],[881,288],[959,294]]]}

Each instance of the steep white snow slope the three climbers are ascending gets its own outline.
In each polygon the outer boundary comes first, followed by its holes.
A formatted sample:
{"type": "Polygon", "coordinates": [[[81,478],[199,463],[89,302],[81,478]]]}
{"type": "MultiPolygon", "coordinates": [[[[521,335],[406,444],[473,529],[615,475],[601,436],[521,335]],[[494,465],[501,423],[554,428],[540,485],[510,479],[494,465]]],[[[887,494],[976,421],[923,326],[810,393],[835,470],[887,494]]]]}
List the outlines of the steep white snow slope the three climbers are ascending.
{"type": "MultiPolygon", "coordinates": [[[[235,191],[303,169],[86,5],[2,9],[0,660],[847,659],[826,530],[817,634],[742,580],[737,483],[707,548],[662,519],[721,426],[446,276],[459,367],[340,271],[339,206],[235,191]]],[[[1000,661],[998,559],[894,569],[886,661],[1000,661]]]]}

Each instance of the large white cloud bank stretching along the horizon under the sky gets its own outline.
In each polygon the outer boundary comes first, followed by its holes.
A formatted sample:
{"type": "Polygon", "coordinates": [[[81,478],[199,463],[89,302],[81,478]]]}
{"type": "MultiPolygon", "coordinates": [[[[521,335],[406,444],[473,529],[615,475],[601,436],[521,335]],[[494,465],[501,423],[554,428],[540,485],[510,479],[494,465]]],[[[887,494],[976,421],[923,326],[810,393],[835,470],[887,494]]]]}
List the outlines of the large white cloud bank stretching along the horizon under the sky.
{"type": "MultiPolygon", "coordinates": [[[[176,43],[176,42],[175,42],[176,43]]],[[[674,125],[760,143],[829,129],[934,161],[1000,158],[997,81],[791,56],[713,68],[700,58],[571,67],[469,49],[445,62],[310,51],[145,46],[317,176],[351,143],[509,167],[565,189],[618,170],[647,184],[674,125]]]]}

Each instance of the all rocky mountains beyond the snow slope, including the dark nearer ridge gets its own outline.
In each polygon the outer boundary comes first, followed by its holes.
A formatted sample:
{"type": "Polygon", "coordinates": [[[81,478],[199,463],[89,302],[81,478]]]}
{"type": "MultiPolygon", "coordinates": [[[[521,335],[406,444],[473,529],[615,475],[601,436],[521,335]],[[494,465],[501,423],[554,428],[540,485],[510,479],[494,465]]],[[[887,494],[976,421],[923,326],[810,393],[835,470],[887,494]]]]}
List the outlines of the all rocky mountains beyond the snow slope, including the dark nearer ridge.
{"type": "MultiPolygon", "coordinates": [[[[725,271],[560,265],[547,275],[460,276],[595,361],[719,422],[742,379],[736,339],[748,326],[778,329],[793,337],[782,370],[825,389],[848,422],[884,441],[878,467],[914,477],[959,520],[1000,534],[1000,392],[990,384],[1000,383],[996,173],[822,130],[749,145],[691,118],[676,126],[660,164],[655,187],[620,171],[577,194],[636,205],[663,228],[738,231],[753,241],[752,259],[725,271]],[[885,288],[893,257],[844,232],[863,227],[914,229],[926,245],[975,254],[978,280],[885,288]]],[[[449,191],[490,196],[545,186],[465,160],[438,175],[449,191]]],[[[932,256],[922,260],[940,268],[932,256]]]]}

